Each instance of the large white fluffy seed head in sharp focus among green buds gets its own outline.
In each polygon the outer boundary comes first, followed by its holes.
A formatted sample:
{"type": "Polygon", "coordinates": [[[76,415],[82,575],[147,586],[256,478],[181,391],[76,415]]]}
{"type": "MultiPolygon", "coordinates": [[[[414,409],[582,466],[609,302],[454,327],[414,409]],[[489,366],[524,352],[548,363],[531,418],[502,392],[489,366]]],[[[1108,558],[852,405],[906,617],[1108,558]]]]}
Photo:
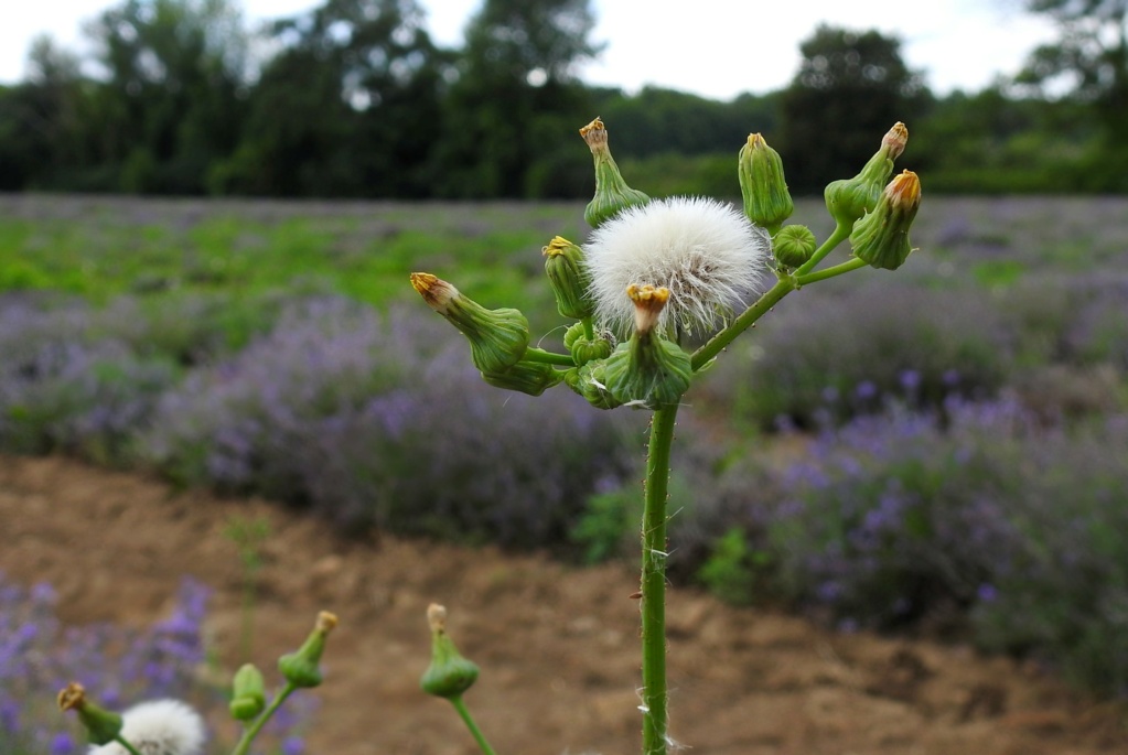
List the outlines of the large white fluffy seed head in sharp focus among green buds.
{"type": "Polygon", "coordinates": [[[770,257],[766,231],[730,205],[703,197],[629,207],[584,246],[596,317],[619,335],[634,321],[627,286],[670,290],[660,327],[712,330],[750,303],[770,257]]]}

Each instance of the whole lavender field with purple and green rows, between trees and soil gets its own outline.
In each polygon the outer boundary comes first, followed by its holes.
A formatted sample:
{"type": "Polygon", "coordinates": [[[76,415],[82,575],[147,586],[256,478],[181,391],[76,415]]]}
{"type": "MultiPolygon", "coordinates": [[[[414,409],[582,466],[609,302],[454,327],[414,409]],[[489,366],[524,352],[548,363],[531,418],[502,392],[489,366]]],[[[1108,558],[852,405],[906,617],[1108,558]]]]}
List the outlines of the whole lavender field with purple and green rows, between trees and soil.
{"type": "MultiPolygon", "coordinates": [[[[820,205],[794,220],[822,237],[820,205]]],[[[540,247],[581,213],[2,196],[0,450],[617,558],[644,417],[485,385],[407,283],[518,302],[559,350],[540,247]]],[[[1126,695],[1128,199],[926,196],[913,242],[788,297],[687,397],[671,570],[1126,695]]]]}

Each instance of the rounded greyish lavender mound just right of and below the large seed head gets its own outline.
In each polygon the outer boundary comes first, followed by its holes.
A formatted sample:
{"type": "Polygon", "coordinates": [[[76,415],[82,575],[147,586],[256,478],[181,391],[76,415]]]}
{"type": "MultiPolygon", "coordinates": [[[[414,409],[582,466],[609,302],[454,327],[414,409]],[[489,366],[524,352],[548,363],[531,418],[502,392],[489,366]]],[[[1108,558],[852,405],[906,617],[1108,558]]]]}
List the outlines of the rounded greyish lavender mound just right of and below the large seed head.
{"type": "Polygon", "coordinates": [[[804,291],[803,307],[773,314],[731,349],[706,390],[754,427],[814,428],[945,397],[994,396],[1011,374],[1011,335],[973,288],[900,282],[804,291]]]}

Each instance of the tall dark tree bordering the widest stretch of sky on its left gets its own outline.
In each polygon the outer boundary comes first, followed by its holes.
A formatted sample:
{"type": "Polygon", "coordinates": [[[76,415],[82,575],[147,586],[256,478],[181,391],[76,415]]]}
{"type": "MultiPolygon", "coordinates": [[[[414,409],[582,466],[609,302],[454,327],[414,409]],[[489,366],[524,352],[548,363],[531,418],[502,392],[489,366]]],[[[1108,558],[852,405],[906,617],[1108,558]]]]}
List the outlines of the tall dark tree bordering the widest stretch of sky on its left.
{"type": "MultiPolygon", "coordinates": [[[[486,0],[444,112],[434,163],[446,196],[579,196],[584,151],[562,137],[594,115],[575,68],[596,55],[589,0],[486,0]]],[[[579,136],[575,137],[579,140],[579,136]]],[[[582,145],[581,145],[582,146],[582,145]]]]}

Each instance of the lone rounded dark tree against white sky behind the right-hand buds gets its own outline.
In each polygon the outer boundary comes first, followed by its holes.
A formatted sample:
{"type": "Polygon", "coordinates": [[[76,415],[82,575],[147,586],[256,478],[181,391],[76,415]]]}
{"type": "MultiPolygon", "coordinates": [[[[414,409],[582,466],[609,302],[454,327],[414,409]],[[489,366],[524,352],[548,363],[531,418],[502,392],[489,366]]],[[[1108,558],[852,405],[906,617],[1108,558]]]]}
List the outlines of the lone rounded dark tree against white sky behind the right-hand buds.
{"type": "Polygon", "coordinates": [[[880,32],[822,25],[800,51],[803,62],[783,94],[778,149],[792,190],[821,193],[854,176],[896,122],[911,127],[928,92],[901,59],[900,41],[880,32]]]}

